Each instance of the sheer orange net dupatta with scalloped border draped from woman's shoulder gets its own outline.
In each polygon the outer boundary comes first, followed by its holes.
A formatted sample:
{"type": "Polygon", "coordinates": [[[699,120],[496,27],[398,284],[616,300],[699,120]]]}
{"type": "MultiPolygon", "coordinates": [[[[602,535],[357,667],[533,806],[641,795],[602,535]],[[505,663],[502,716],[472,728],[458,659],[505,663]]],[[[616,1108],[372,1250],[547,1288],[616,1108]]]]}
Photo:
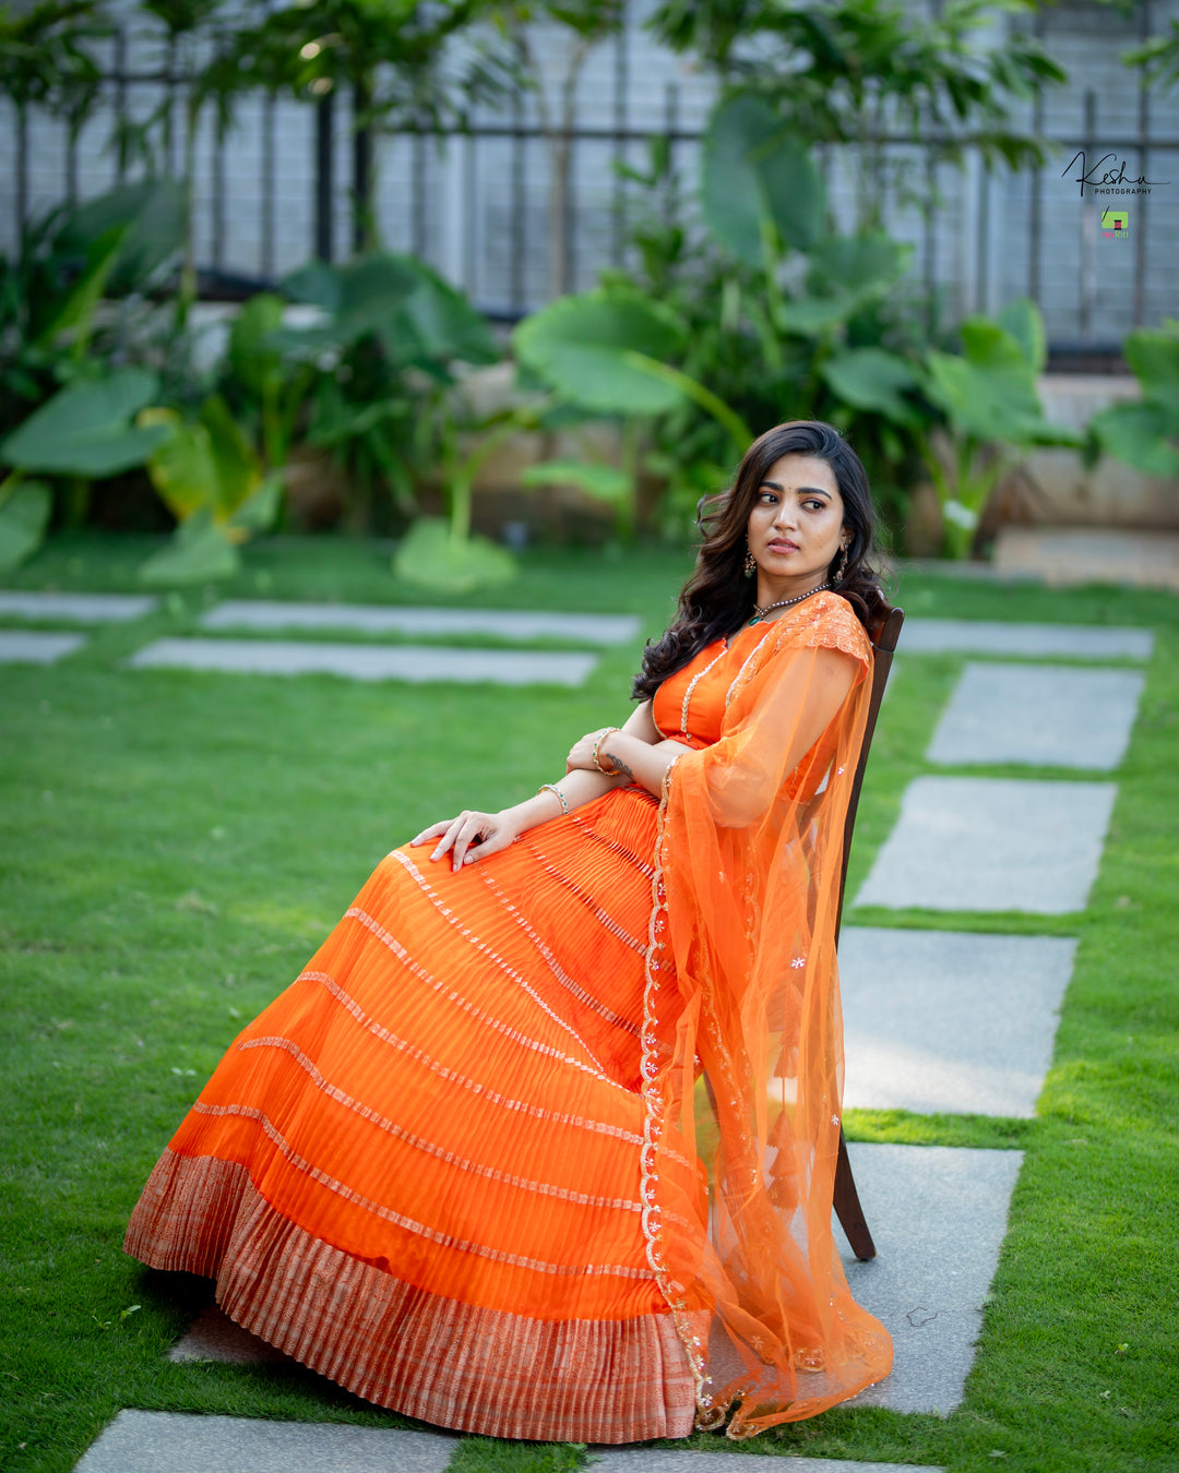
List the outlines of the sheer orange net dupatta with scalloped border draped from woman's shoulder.
{"type": "Polygon", "coordinates": [[[815,604],[771,626],[728,694],[721,739],[676,759],[660,806],[644,1230],[696,1374],[697,1424],[728,1420],[732,1438],[815,1416],[892,1365],[831,1234],[834,928],[871,647],[843,600],[815,604]],[[697,1152],[707,1202],[684,1171],[697,1152]]]}

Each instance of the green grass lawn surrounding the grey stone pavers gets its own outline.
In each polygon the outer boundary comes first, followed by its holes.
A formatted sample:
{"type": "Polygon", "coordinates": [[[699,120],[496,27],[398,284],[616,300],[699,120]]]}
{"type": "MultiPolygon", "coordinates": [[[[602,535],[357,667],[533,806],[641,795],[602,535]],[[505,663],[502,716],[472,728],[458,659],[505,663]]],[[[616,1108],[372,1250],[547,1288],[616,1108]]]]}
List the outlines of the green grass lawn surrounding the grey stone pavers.
{"type": "MultiPolygon", "coordinates": [[[[60,539],[7,582],[131,591],[146,549],[60,539]]],[[[634,611],[657,633],[687,554],[536,549],[525,564],[514,586],[467,602],[634,611]]],[[[72,1467],[121,1407],[408,1424],[301,1370],[167,1361],[206,1287],[125,1258],[127,1215],[224,1047],[377,859],[460,806],[533,791],[573,738],[628,709],[637,647],[607,651],[573,692],[122,667],[149,638],[193,630],[221,594],[421,601],[368,545],[264,542],[218,595],[172,595],[52,669],[0,667],[4,1469],[72,1467]]],[[[911,614],[1150,625],[1157,650],[1083,916],[847,916],[1080,940],[1036,1119],[847,1117],[859,1140],[1026,1152],[965,1401],[946,1418],[837,1408],[753,1444],[691,1445],[952,1470],[1179,1469],[1179,600],[912,574],[898,601],[911,614]]],[[[902,636],[849,894],[905,784],[928,770],[961,663],[905,655],[902,636]]],[[[467,1473],[581,1457],[461,1445],[467,1473]]]]}

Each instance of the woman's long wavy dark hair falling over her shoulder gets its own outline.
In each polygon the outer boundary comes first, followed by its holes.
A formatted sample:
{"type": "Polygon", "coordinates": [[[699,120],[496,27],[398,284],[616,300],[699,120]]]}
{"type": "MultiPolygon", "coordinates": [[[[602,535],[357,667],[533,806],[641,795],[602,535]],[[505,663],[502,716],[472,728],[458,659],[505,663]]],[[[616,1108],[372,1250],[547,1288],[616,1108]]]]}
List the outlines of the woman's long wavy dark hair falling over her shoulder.
{"type": "MultiPolygon", "coordinates": [[[[671,627],[643,653],[643,669],[631,688],[635,700],[654,695],[668,676],[682,670],[706,645],[735,635],[749,622],[758,594],[758,580],[743,576],[749,514],[769,467],[783,455],[812,455],[831,467],[843,498],[843,526],[852,533],[843,573],[833,582],[834,592],[847,600],[865,629],[887,611],[880,580],[868,563],[875,514],[859,457],[833,426],[821,420],[790,420],[766,430],[749,446],[728,491],[700,502],[697,523],[704,541],[696,569],[679,594],[671,627]]],[[[828,579],[837,561],[839,554],[827,572],[828,579]]]]}

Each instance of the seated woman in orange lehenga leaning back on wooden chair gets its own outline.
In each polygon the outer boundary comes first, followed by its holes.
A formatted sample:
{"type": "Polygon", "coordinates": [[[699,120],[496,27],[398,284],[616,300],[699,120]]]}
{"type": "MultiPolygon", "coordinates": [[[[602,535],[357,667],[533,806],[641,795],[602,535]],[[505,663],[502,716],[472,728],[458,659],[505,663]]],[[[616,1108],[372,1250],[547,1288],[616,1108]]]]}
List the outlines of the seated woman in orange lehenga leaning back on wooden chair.
{"type": "Polygon", "coordinates": [[[740,1438],[890,1367],[831,1237],[834,922],[883,607],[864,468],[830,426],[780,426],[704,533],[626,725],[389,854],[131,1218],[130,1254],[426,1421],[740,1438]]]}

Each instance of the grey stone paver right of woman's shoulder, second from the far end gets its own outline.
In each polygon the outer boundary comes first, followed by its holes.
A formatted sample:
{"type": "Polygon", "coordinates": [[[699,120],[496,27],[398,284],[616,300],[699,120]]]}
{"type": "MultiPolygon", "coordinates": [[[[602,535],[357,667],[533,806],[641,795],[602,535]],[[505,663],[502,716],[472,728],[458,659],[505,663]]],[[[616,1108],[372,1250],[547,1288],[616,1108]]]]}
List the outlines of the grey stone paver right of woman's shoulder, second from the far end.
{"type": "Polygon", "coordinates": [[[1110,770],[1126,754],[1145,676],[1057,664],[968,664],[928,762],[1110,770]]]}

